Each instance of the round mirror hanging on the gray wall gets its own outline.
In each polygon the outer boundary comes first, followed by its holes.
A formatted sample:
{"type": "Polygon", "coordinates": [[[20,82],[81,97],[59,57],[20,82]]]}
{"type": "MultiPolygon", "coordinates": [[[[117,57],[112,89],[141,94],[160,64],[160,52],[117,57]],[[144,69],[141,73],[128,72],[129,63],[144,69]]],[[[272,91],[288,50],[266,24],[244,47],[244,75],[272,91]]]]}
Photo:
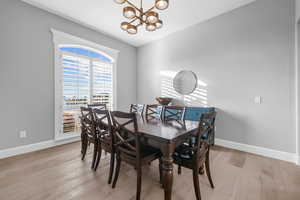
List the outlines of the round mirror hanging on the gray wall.
{"type": "Polygon", "coordinates": [[[182,95],[191,94],[197,88],[197,85],[197,76],[192,71],[180,71],[173,79],[173,87],[175,91],[182,95]]]}

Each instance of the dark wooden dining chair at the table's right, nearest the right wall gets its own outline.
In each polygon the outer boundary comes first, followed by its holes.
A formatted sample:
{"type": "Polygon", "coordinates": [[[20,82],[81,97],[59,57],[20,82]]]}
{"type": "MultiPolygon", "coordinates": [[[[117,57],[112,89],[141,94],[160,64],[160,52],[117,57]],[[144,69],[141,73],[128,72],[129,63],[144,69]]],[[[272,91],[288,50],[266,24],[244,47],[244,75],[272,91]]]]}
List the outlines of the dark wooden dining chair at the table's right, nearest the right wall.
{"type": "Polygon", "coordinates": [[[197,200],[201,200],[200,186],[199,186],[199,170],[205,165],[205,171],[210,183],[214,188],[210,173],[209,152],[210,144],[208,139],[204,139],[204,134],[212,134],[212,122],[215,121],[216,112],[202,114],[198,129],[194,134],[196,138],[195,144],[184,143],[176,148],[173,154],[174,163],[178,166],[193,170],[194,190],[197,200]]]}

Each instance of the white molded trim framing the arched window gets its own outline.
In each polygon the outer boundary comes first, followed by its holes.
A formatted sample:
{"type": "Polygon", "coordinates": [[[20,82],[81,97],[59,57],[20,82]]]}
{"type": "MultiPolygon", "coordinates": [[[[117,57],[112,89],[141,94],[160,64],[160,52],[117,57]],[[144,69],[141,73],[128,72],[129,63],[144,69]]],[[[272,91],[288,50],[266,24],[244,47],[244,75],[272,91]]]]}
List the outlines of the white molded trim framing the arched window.
{"type": "Polygon", "coordinates": [[[61,68],[61,52],[59,50],[60,46],[82,46],[84,48],[90,47],[91,49],[98,50],[105,56],[113,60],[113,109],[117,108],[117,60],[119,55],[119,50],[111,49],[100,44],[64,33],[55,29],[51,29],[54,43],[54,75],[55,75],[55,86],[54,86],[54,123],[55,123],[55,140],[64,140],[73,137],[78,137],[80,134],[67,135],[63,134],[63,123],[62,123],[62,113],[63,113],[63,101],[62,101],[62,68],[61,68]]]}

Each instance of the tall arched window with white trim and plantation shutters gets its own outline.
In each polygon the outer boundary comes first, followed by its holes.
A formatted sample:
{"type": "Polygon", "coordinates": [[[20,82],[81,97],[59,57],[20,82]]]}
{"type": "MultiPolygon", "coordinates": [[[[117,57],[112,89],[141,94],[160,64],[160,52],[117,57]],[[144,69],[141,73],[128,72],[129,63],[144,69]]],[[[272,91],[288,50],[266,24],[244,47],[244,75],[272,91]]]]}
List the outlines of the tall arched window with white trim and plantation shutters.
{"type": "MultiPolygon", "coordinates": [[[[58,32],[59,36],[61,34],[58,32]]],[[[64,33],[63,38],[54,36],[55,137],[60,139],[79,135],[80,107],[101,103],[108,109],[115,108],[116,56],[108,55],[104,47],[96,45],[95,48],[95,44],[74,36],[72,41],[64,33]]]]}

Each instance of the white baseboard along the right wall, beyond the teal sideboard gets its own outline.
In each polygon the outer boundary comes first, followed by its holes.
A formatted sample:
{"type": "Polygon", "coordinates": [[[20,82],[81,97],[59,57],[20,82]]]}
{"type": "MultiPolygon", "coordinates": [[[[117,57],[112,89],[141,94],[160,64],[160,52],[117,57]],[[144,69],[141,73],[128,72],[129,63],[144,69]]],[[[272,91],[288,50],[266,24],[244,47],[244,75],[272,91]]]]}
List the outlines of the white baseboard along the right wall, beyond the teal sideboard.
{"type": "MultiPolygon", "coordinates": [[[[223,139],[216,139],[215,144],[219,145],[219,146],[227,147],[230,149],[236,149],[239,151],[258,154],[258,155],[269,157],[269,158],[275,158],[278,160],[284,160],[284,161],[288,161],[288,162],[297,163],[297,156],[294,153],[277,151],[277,150],[273,150],[273,149],[268,149],[268,148],[258,147],[258,146],[248,145],[248,144],[242,144],[242,143],[232,142],[232,141],[223,140],[223,139]]],[[[298,159],[298,163],[299,163],[299,159],[298,159]]]]}

